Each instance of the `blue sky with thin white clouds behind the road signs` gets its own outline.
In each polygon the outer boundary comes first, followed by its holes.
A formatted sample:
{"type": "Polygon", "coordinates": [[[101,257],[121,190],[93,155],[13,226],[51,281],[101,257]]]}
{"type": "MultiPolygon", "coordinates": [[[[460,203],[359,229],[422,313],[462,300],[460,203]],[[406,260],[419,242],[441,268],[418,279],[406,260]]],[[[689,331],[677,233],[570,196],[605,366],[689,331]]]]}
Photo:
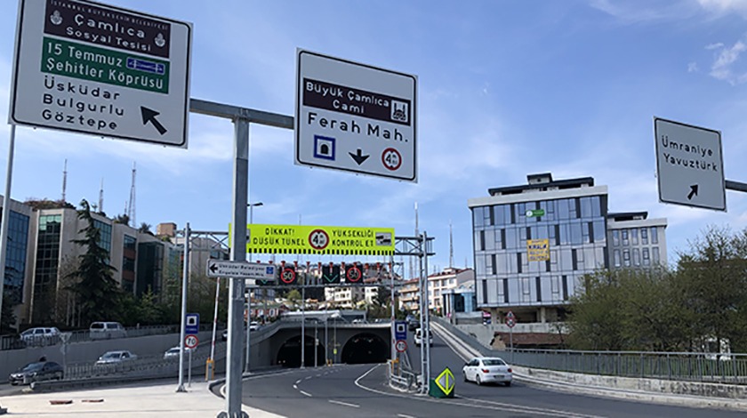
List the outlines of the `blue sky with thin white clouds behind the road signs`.
{"type": "MultiPolygon", "coordinates": [[[[666,218],[671,262],[727,212],[659,202],[654,117],[721,132],[727,180],[747,182],[747,0],[215,1],[108,3],[193,25],[190,96],[293,116],[297,48],[417,76],[418,181],[294,165],[291,130],[252,125],[253,221],[394,228],[435,237],[430,271],[472,267],[467,201],[487,189],[593,177],[610,212],[666,218]],[[207,5],[210,4],[210,5],[207,5]]],[[[0,2],[0,115],[9,111],[18,2],[0,2]]],[[[0,125],[5,182],[10,125],[0,125]]],[[[224,231],[232,210],[233,126],[189,117],[178,149],[80,133],[16,133],[13,199],[59,199],[135,222],[224,231]]],[[[292,256],[287,256],[292,257],[292,256]]],[[[311,260],[316,261],[316,260],[311,260]]],[[[325,260],[319,260],[325,261],[325,260]]],[[[374,260],[365,260],[374,261],[374,260]]]]}

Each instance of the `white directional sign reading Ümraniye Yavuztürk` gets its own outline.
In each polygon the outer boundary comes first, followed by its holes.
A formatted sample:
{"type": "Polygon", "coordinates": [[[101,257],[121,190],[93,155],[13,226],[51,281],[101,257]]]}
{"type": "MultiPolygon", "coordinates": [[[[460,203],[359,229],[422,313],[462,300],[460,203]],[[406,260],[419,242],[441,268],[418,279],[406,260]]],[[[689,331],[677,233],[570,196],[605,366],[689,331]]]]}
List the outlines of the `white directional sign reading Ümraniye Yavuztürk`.
{"type": "Polygon", "coordinates": [[[659,200],[727,210],[721,133],[654,119],[659,200]]]}

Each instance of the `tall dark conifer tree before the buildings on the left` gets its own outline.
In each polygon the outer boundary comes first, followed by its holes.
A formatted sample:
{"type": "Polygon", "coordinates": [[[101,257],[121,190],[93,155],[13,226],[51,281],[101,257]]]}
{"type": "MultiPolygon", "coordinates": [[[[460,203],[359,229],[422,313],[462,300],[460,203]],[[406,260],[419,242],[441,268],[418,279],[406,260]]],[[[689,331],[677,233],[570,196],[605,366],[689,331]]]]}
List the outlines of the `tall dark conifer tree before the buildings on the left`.
{"type": "Polygon", "coordinates": [[[85,199],[80,205],[77,216],[87,226],[79,230],[84,237],[74,239],[72,243],[85,250],[78,256],[77,269],[70,272],[68,277],[74,281],[70,290],[76,293],[79,301],[81,323],[88,324],[116,315],[120,290],[113,277],[116,269],[108,263],[107,250],[99,245],[101,234],[93,224],[91,207],[85,199]]]}

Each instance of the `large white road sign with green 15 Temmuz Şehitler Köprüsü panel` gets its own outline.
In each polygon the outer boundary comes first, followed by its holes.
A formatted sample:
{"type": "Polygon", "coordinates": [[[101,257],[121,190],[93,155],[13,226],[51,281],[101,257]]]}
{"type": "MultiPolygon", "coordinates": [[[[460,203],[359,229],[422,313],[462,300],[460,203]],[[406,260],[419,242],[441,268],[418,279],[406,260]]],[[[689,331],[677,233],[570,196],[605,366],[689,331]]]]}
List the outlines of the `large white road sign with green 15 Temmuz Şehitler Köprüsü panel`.
{"type": "Polygon", "coordinates": [[[20,0],[11,124],[187,148],[192,27],[80,0],[20,0]]]}

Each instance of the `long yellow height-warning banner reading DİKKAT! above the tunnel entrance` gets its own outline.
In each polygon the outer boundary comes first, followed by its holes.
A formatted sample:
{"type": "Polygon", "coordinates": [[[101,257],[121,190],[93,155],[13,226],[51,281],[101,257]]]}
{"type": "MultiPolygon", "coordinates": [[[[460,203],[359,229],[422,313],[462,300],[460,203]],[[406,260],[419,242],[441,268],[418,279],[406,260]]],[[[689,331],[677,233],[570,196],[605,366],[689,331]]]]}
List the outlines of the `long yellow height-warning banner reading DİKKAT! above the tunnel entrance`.
{"type": "Polygon", "coordinates": [[[246,252],[391,255],[394,229],[252,224],[246,226],[246,252]]]}

